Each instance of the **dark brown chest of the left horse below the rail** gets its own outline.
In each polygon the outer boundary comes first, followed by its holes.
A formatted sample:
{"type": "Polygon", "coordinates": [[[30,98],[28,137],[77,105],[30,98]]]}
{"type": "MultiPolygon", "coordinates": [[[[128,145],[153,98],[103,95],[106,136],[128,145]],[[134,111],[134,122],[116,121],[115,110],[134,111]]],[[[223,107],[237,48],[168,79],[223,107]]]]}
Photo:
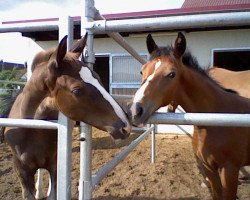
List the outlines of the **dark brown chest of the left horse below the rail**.
{"type": "Polygon", "coordinates": [[[10,129],[6,141],[23,165],[42,168],[56,161],[57,132],[40,129],[10,129]]]}

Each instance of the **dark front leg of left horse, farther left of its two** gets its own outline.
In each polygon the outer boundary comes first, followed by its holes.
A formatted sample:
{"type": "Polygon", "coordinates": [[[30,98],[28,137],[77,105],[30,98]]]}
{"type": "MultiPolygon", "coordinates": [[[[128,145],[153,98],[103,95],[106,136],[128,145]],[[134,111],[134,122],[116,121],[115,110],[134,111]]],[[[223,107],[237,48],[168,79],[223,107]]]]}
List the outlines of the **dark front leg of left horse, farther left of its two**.
{"type": "Polygon", "coordinates": [[[22,196],[25,200],[35,200],[35,173],[24,169],[17,158],[14,158],[14,170],[16,171],[22,187],[22,196]]]}

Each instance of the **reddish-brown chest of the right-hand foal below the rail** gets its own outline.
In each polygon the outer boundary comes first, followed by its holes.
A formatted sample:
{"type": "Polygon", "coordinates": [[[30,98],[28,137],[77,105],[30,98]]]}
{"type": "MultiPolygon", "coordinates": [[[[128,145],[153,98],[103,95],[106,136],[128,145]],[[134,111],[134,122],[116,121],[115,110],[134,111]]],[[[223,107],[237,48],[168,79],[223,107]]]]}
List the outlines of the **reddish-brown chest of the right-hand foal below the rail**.
{"type": "Polygon", "coordinates": [[[233,127],[195,128],[194,153],[205,163],[244,165],[250,155],[247,129],[233,127]],[[246,137],[247,136],[247,137],[246,137]]]}

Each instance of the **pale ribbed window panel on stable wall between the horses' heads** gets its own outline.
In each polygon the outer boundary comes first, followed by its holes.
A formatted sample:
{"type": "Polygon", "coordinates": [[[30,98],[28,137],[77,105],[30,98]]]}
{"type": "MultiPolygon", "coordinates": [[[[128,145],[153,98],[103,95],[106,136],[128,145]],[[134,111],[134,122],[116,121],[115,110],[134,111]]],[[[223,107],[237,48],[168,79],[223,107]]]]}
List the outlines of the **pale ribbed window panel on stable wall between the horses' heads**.
{"type": "Polygon", "coordinates": [[[112,83],[140,83],[140,70],[141,63],[132,56],[112,56],[112,83]]]}

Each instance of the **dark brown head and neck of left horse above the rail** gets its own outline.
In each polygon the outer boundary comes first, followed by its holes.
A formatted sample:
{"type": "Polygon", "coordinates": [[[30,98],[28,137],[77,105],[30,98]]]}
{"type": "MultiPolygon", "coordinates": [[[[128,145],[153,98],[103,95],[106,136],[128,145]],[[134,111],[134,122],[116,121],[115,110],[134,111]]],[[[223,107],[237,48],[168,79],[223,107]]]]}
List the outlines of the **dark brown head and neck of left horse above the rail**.
{"type": "Polygon", "coordinates": [[[87,34],[67,52],[65,36],[56,49],[38,53],[32,76],[9,117],[34,118],[43,99],[50,97],[56,110],[72,120],[108,131],[115,139],[128,137],[131,126],[124,111],[103,88],[98,75],[79,60],[86,40],[87,34]]]}

